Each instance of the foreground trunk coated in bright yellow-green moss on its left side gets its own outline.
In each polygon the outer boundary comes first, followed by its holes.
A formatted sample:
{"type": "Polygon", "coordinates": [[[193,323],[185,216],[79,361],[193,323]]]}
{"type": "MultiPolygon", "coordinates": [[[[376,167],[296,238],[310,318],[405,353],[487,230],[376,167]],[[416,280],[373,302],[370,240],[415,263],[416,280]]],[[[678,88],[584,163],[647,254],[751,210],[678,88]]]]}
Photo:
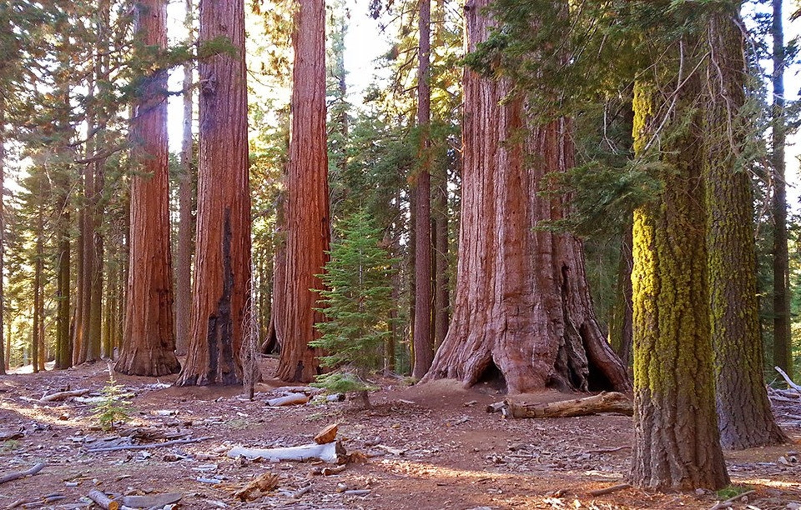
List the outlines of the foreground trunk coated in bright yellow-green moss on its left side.
{"type": "MultiPolygon", "coordinates": [[[[670,98],[655,86],[634,92],[634,147],[642,155],[652,114],[670,98]]],[[[672,90],[672,89],[671,89],[672,90]]],[[[634,213],[634,452],[631,482],[662,491],[729,483],[714,408],[698,74],[678,91],[689,126],[662,147],[664,189],[634,213]]]]}

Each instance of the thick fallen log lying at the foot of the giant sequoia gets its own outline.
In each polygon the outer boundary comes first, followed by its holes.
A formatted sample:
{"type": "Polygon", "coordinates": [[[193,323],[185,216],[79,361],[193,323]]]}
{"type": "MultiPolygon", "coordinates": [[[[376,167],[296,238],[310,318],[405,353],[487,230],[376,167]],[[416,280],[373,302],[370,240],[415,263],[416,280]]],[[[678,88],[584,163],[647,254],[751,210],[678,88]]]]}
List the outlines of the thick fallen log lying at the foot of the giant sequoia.
{"type": "Polygon", "coordinates": [[[567,416],[587,416],[599,412],[618,412],[632,416],[634,404],[622,393],[602,392],[583,399],[562,400],[549,404],[525,404],[504,400],[513,418],[564,418],[567,416]]]}

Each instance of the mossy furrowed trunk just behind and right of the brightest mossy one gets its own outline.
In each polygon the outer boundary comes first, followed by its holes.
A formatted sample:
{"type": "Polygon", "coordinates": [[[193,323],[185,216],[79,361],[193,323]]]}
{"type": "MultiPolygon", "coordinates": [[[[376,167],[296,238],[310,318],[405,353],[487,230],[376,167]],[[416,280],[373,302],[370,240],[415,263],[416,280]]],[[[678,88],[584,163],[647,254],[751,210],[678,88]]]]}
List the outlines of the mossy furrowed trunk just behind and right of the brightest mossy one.
{"type": "Polygon", "coordinates": [[[739,111],[747,70],[737,12],[714,14],[707,38],[704,179],[718,427],[723,448],[754,448],[784,443],[787,436],[775,422],[763,380],[751,177],[738,163],[751,125],[739,111]]]}

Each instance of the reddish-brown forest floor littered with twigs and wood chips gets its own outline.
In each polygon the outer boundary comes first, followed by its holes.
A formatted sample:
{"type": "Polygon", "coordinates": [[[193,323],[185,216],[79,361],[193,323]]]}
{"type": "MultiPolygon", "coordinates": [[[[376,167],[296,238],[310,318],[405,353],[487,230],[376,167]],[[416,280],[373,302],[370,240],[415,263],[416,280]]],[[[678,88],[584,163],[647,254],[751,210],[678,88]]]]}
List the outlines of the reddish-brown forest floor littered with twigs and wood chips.
{"type": "MultiPolygon", "coordinates": [[[[265,375],[275,372],[275,359],[261,363],[265,375]]],[[[179,506],[165,508],[191,509],[710,509],[729,496],[634,488],[591,496],[590,491],[622,484],[628,472],[630,417],[503,420],[485,412],[503,398],[490,384],[465,389],[453,381],[408,386],[404,379],[384,379],[370,397],[373,408],[364,411],[352,402],[269,407],[265,401],[283,385],[272,379],[258,384],[255,400],[249,401],[241,388],[175,388],[167,386],[175,376],[157,382],[116,375],[133,394],[133,404],[131,421],[113,432],[96,427],[92,404],[81,398],[39,400],[67,388],[89,389],[87,396],[97,396],[108,379],[106,363],[0,376],[0,438],[19,432],[0,440],[0,478],[46,463],[35,476],[0,485],[0,508],[88,508],[91,489],[115,497],[179,492],[179,506]],[[317,432],[334,423],[347,452],[364,455],[331,476],[313,474],[320,463],[226,456],[235,445],[312,443],[317,432]],[[99,445],[128,444],[136,428],[134,444],[158,442],[157,436],[210,437],[163,448],[89,452],[99,445]],[[236,484],[265,472],[276,474],[275,490],[252,501],[235,499],[236,484]],[[360,492],[348,492],[354,490],[360,492]],[[41,503],[54,494],[64,497],[41,503]]],[[[549,402],[575,396],[541,392],[523,398],[549,402]]],[[[801,415],[801,400],[795,409],[801,415]]],[[[754,491],[731,508],[801,508],[801,463],[792,456],[801,445],[801,428],[786,431],[793,444],[727,452],[732,484],[754,491]]]]}

